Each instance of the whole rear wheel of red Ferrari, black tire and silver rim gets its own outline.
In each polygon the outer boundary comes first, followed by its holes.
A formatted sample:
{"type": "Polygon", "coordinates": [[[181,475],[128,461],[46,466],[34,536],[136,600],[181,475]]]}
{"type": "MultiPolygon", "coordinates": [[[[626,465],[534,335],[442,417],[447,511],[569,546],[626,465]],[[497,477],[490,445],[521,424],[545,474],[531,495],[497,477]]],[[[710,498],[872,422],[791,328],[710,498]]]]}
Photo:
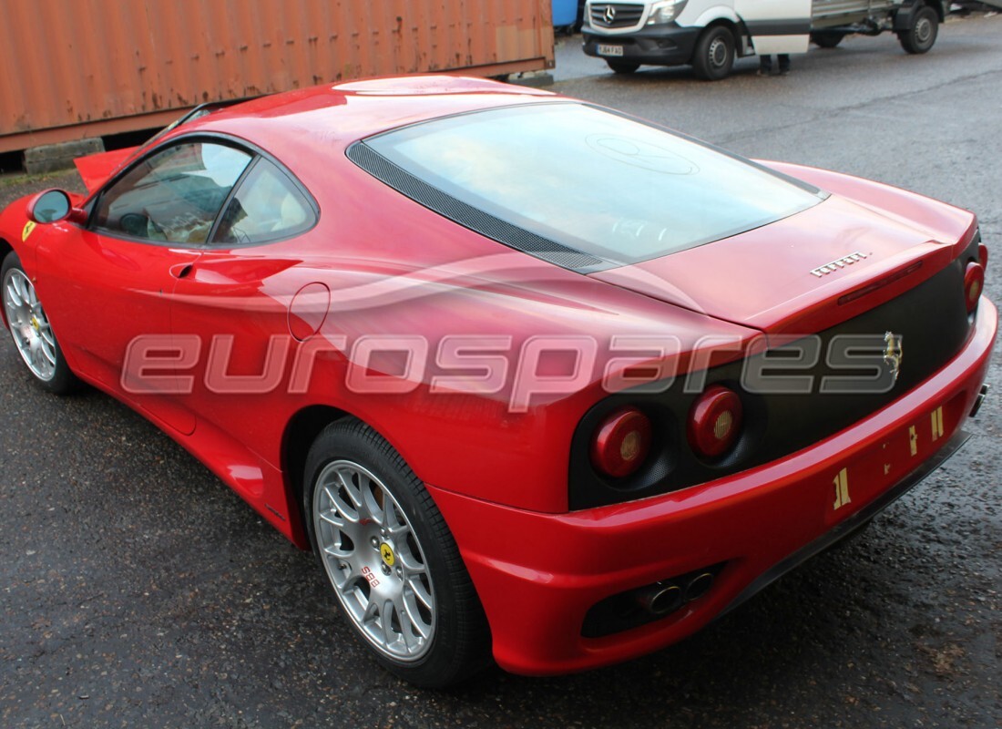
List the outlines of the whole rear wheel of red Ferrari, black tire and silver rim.
{"type": "MultiPolygon", "coordinates": [[[[461,683],[489,666],[487,620],[455,539],[428,490],[393,446],[375,430],[354,418],[338,420],[317,437],[307,457],[305,475],[304,506],[314,554],[328,577],[342,613],[376,660],[401,679],[424,688],[445,688],[461,683]],[[353,468],[356,470],[353,471],[353,468]],[[369,473],[359,476],[358,468],[369,473]],[[340,518],[339,507],[331,496],[331,483],[332,474],[335,490],[338,483],[345,482],[338,480],[339,474],[344,478],[342,469],[356,473],[353,482],[363,494],[362,501],[366,505],[354,500],[345,501],[352,498],[347,489],[337,494],[342,502],[349,509],[354,505],[358,509],[357,516],[361,516],[364,509],[376,510],[367,511],[369,516],[359,518],[357,523],[346,520],[343,522],[345,525],[339,527],[330,518],[321,518],[318,513],[340,518]],[[374,476],[375,480],[368,480],[368,475],[374,476]],[[318,484],[322,482],[325,487],[318,489],[318,484]],[[369,494],[378,495],[373,500],[366,500],[365,496],[369,494]],[[330,509],[322,508],[325,502],[331,505],[330,509]],[[387,509],[394,507],[402,516],[397,511],[387,515],[387,509]],[[382,514],[378,513],[379,508],[384,509],[382,514]],[[406,524],[406,536],[402,537],[397,530],[390,529],[381,533],[397,535],[367,538],[369,534],[365,529],[379,530],[381,524],[395,519],[398,524],[406,524]],[[318,535],[318,524],[325,532],[322,536],[318,535]],[[348,533],[351,530],[358,532],[356,539],[348,533]],[[322,553],[318,546],[320,539],[330,545],[332,534],[335,551],[340,552],[340,556],[322,553]],[[345,536],[348,536],[347,542],[345,536]],[[378,546],[377,541],[381,542],[378,546]],[[370,546],[375,548],[373,553],[369,552],[370,546]],[[389,552],[388,556],[384,550],[389,552]],[[377,574],[375,568],[357,570],[360,561],[378,565],[383,570],[382,575],[377,574]],[[416,580],[424,581],[424,577],[409,575],[410,564],[414,562],[419,565],[418,572],[428,578],[428,582],[421,583],[421,589],[432,596],[432,605],[419,620],[427,620],[431,636],[423,643],[419,642],[420,649],[415,651],[416,655],[398,657],[393,655],[393,645],[388,644],[385,638],[382,639],[384,645],[380,645],[379,633],[383,630],[386,608],[396,600],[394,591],[399,590],[403,596],[399,597],[400,604],[406,606],[408,586],[413,586],[416,580]],[[367,569],[369,577],[363,580],[367,569]],[[401,574],[403,569],[408,572],[401,574]],[[374,582],[372,576],[379,580],[374,582]],[[336,577],[344,582],[341,589],[336,577]],[[379,581],[383,582],[382,587],[379,587],[379,581]],[[378,599],[371,599],[374,592],[380,596],[378,599]],[[365,600],[361,607],[354,602],[360,599],[359,596],[365,600]],[[381,601],[384,607],[379,610],[379,615],[370,615],[373,606],[379,607],[381,601]],[[360,610],[365,615],[358,617],[360,610]],[[376,621],[379,625],[366,625],[376,621]],[[367,628],[370,633],[367,633],[367,628]]],[[[410,604],[416,605],[415,594],[412,593],[410,598],[410,604]]],[[[405,632],[402,627],[405,625],[404,613],[409,616],[413,610],[391,611],[388,618],[393,628],[400,629],[401,635],[405,632]]],[[[407,618],[406,624],[416,626],[417,622],[407,618]]],[[[415,638],[413,632],[409,635],[415,638]]]]}

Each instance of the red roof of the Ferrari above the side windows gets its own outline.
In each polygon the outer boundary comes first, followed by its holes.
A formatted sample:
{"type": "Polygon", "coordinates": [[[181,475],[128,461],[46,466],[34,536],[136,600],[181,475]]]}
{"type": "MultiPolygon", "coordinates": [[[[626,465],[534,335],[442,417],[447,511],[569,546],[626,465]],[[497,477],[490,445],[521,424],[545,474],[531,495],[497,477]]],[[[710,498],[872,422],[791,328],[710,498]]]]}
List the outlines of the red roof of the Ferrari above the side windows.
{"type": "Polygon", "coordinates": [[[397,76],[261,96],[213,111],[171,136],[222,132],[277,155],[341,152],[354,141],[429,119],[498,106],[554,101],[548,91],[484,78],[397,76]]]}

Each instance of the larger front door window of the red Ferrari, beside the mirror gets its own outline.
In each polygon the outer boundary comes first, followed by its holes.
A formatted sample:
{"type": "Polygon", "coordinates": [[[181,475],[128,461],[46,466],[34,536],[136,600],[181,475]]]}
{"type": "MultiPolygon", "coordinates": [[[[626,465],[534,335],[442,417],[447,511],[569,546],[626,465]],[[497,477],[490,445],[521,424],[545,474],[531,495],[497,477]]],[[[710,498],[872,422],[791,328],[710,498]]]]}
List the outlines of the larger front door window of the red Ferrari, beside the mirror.
{"type": "Polygon", "coordinates": [[[94,226],[116,236],[204,244],[252,155],[212,142],[174,144],[151,154],[101,196],[94,226]]]}

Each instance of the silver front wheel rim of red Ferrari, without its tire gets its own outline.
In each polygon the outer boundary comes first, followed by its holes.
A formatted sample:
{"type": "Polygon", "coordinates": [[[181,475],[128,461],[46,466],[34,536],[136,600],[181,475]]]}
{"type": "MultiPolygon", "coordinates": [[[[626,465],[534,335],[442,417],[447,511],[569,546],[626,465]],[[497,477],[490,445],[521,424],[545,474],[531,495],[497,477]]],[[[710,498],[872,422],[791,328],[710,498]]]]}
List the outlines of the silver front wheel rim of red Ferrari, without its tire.
{"type": "Polygon", "coordinates": [[[4,276],[3,303],[21,358],[35,377],[49,382],[56,374],[56,340],[35,287],[18,268],[4,276]]]}

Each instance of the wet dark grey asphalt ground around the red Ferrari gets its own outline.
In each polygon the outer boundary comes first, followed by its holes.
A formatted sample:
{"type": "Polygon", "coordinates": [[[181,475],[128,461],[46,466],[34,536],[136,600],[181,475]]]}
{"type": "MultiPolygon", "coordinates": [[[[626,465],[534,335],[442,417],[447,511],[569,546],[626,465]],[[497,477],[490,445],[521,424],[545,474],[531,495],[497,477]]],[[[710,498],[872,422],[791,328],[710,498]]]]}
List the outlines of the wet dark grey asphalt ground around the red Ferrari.
{"type": "MultiPolygon", "coordinates": [[[[1002,302],[1002,17],[950,22],[927,56],[854,37],[718,83],[613,76],[577,42],[554,90],[976,211],[1002,302]]],[[[0,180],[0,202],[52,181],[0,180]]],[[[961,453],[700,634],[426,692],[381,671],[313,559],[168,437],[97,392],[42,393],[0,343],[0,727],[997,727],[1000,368],[996,351],[961,453]]]]}

